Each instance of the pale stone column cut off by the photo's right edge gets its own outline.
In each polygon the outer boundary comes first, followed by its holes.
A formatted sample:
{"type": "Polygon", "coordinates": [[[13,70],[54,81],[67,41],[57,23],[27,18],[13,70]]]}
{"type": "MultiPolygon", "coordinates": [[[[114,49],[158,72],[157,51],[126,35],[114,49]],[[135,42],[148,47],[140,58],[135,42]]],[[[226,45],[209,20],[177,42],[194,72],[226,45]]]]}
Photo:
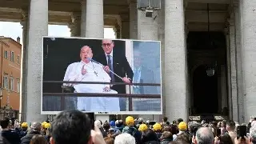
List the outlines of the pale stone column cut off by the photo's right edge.
{"type": "Polygon", "coordinates": [[[242,74],[245,122],[256,115],[256,1],[239,1],[242,6],[242,74]]]}

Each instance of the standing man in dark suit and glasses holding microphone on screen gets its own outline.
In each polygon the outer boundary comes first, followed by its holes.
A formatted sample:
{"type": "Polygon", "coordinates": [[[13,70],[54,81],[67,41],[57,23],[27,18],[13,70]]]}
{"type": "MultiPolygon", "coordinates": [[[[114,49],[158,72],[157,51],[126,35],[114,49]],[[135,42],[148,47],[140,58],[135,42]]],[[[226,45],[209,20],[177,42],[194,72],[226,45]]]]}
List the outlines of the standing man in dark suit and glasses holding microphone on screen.
{"type": "MultiPolygon", "coordinates": [[[[104,53],[96,56],[95,60],[104,65],[104,70],[110,74],[111,82],[130,83],[134,76],[133,70],[131,70],[126,56],[115,53],[113,48],[114,42],[112,40],[103,39],[102,49],[104,53]],[[118,74],[122,79],[110,73],[110,70],[114,71],[114,73],[118,74]]],[[[126,85],[114,85],[111,89],[118,91],[118,94],[126,94],[126,85]]],[[[120,98],[120,110],[126,111],[126,98],[120,98]]]]}

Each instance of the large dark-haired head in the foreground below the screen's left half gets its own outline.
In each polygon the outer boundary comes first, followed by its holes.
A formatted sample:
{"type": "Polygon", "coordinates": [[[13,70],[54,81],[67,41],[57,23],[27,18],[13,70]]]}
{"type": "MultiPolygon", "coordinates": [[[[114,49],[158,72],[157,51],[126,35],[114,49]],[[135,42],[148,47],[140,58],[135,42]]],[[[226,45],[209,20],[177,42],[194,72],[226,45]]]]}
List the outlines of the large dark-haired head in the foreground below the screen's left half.
{"type": "Polygon", "coordinates": [[[55,144],[85,144],[90,140],[90,118],[79,110],[64,110],[51,125],[55,144]]]}

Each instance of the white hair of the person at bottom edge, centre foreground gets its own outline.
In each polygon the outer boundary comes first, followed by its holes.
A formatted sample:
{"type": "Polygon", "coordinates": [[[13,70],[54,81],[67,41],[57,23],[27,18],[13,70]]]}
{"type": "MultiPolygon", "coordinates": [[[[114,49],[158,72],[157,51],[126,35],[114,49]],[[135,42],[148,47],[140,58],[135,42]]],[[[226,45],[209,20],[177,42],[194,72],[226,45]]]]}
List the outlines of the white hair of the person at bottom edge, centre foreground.
{"type": "Polygon", "coordinates": [[[135,138],[127,133],[119,134],[114,139],[114,144],[135,144],[135,143],[136,143],[135,138]]]}

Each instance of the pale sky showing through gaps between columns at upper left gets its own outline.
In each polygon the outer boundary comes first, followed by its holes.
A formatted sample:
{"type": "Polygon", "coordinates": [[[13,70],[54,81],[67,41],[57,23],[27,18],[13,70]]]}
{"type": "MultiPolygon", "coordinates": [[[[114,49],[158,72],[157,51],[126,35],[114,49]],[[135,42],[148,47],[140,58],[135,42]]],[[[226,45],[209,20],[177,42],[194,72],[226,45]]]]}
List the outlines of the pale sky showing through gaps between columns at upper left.
{"type": "MultiPolygon", "coordinates": [[[[48,25],[49,36],[70,37],[70,29],[68,26],[48,25]]],[[[22,43],[22,26],[19,22],[0,22],[0,36],[13,38],[16,40],[21,38],[22,43]]],[[[104,28],[104,38],[115,38],[112,28],[104,28]]]]}

